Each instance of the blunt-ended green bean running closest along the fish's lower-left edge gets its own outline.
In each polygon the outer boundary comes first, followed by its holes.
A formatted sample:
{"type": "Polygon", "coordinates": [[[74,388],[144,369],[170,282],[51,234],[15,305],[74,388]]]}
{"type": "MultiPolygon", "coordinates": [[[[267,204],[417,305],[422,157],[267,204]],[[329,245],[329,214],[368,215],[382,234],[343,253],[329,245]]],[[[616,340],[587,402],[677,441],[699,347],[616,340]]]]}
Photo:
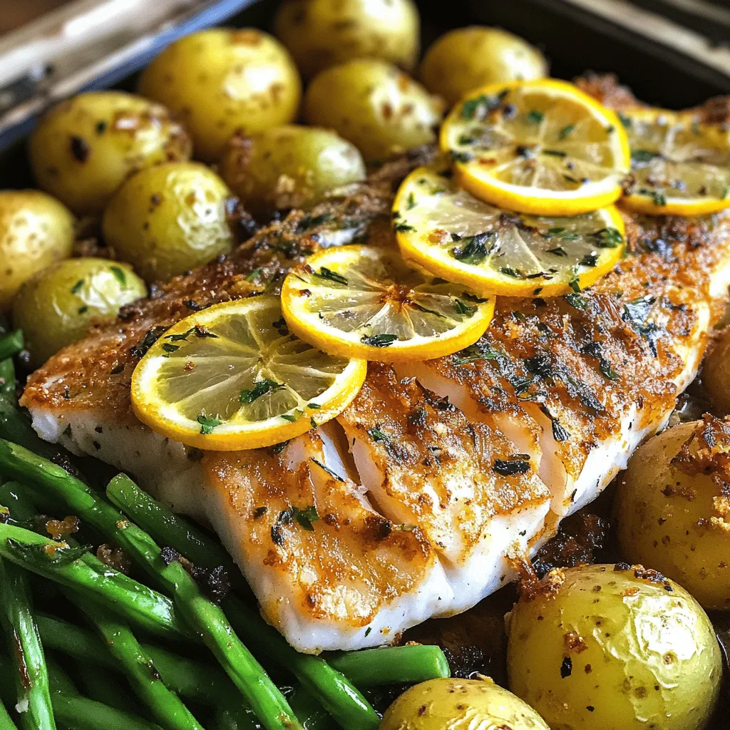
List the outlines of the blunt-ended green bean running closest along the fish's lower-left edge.
{"type": "MultiPolygon", "coordinates": [[[[189,525],[187,520],[145,495],[131,480],[123,477],[112,480],[107,487],[107,496],[130,518],[144,521],[155,538],[164,535],[166,545],[185,554],[193,563],[200,560],[205,567],[221,564],[220,551],[223,548],[189,525]],[[191,533],[196,534],[193,548],[187,542],[191,533]]],[[[247,645],[260,656],[270,656],[293,672],[343,728],[377,728],[377,713],[347,677],[332,669],[323,659],[300,654],[291,648],[276,629],[241,601],[226,599],[223,607],[247,645]]]]}

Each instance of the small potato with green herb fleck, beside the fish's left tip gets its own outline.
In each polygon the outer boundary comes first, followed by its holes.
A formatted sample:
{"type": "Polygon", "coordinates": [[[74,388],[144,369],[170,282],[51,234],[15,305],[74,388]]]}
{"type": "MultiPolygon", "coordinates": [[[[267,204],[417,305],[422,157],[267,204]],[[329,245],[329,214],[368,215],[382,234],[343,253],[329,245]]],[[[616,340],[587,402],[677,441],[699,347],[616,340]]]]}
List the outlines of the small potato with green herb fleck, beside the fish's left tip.
{"type": "Polygon", "coordinates": [[[23,330],[31,365],[83,337],[92,323],[113,320],[123,304],[147,296],[131,266],[104,258],[59,261],[23,284],[12,321],[23,330]]]}

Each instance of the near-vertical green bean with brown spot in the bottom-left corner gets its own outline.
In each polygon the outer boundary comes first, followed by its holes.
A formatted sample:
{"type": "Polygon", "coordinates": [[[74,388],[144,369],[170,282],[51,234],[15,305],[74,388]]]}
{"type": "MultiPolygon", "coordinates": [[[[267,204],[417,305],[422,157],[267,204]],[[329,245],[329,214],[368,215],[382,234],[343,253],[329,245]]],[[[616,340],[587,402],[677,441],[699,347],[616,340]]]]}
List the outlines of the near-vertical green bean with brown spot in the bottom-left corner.
{"type": "Polygon", "coordinates": [[[27,705],[27,710],[20,713],[21,724],[28,730],[55,730],[48,670],[31,609],[28,577],[17,566],[3,560],[0,560],[0,611],[15,648],[18,704],[27,705]]]}

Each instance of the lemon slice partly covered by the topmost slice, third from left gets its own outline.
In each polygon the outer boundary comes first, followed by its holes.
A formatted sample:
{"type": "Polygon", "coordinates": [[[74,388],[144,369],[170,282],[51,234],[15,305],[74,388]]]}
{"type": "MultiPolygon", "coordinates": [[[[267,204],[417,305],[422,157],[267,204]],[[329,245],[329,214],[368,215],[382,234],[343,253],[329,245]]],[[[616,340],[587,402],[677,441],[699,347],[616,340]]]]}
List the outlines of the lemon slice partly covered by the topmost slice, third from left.
{"type": "Polygon", "coordinates": [[[514,213],[426,167],[401,185],[393,224],[406,261],[485,295],[504,296],[585,289],[621,258],[625,235],[613,206],[569,218],[514,213]]]}

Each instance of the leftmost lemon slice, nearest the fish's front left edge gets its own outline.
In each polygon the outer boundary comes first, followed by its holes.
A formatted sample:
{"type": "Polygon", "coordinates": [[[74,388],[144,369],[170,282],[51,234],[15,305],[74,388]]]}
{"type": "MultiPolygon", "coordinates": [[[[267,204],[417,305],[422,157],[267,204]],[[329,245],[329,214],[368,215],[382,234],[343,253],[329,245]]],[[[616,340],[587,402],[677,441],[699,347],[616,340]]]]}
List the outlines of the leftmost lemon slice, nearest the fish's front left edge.
{"type": "Polygon", "coordinates": [[[132,407],[188,446],[272,446],[339,415],[366,371],[364,360],[326,355],[291,334],[279,297],[255,296],[169,328],[134,369],[132,407]]]}

